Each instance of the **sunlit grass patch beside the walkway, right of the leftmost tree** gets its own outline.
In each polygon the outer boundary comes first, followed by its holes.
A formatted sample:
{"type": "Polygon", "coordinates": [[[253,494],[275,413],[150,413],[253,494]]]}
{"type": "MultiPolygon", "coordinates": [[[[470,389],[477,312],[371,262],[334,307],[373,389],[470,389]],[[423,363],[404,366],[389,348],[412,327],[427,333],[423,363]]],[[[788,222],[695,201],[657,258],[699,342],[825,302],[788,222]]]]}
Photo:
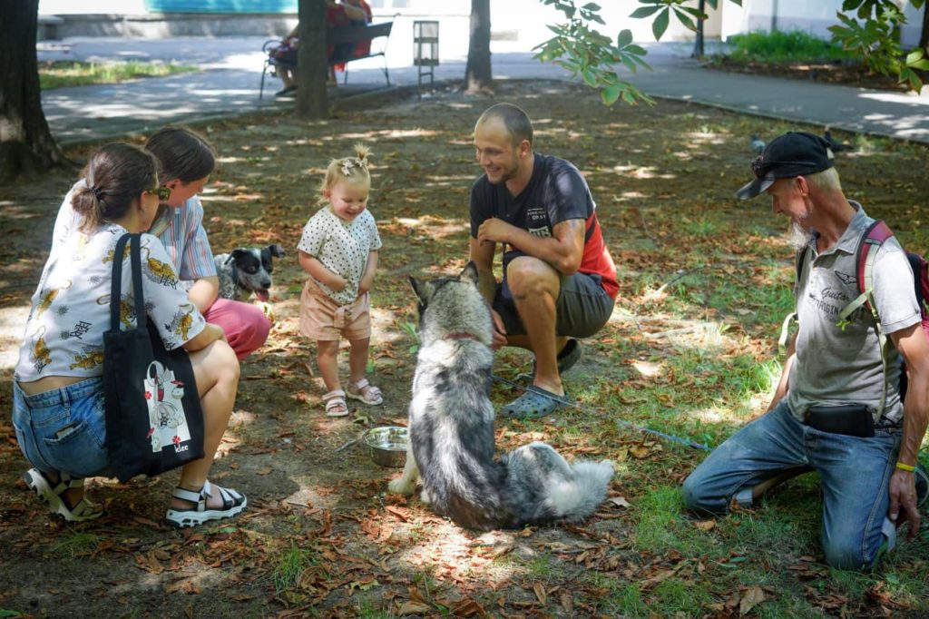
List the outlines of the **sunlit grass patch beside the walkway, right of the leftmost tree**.
{"type": "Polygon", "coordinates": [[[39,85],[43,90],[68,86],[116,84],[140,77],[166,77],[200,71],[197,67],[164,62],[79,62],[54,60],[39,63],[39,85]]]}

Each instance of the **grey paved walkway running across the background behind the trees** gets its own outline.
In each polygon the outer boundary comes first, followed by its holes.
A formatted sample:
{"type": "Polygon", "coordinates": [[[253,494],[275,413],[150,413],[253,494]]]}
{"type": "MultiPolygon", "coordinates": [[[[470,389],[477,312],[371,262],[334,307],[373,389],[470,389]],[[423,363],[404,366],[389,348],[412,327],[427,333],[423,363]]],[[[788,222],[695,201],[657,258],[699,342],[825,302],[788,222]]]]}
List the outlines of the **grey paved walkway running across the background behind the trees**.
{"type": "MultiPolygon", "coordinates": [[[[62,144],[147,133],[155,126],[209,116],[285,111],[292,101],[275,99],[280,83],[270,78],[266,97],[258,99],[265,37],[176,38],[167,40],[84,38],[63,45],[40,44],[39,59],[162,59],[201,66],[204,71],[149,78],[111,86],[48,90],[43,108],[52,133],[62,144]]],[[[690,46],[648,46],[653,71],[630,76],[650,95],[713,105],[849,131],[929,143],[929,87],[922,96],[833,86],[801,80],[752,76],[704,69],[687,58],[690,46]]],[[[389,60],[389,50],[387,53],[389,60]]],[[[385,88],[381,59],[349,66],[348,85],[331,88],[333,99],[385,88]]],[[[437,80],[461,79],[464,58],[443,59],[437,80]]],[[[416,69],[390,66],[392,86],[415,86],[416,69]]],[[[527,52],[493,55],[496,79],[568,79],[569,73],[546,65],[527,52]]]]}

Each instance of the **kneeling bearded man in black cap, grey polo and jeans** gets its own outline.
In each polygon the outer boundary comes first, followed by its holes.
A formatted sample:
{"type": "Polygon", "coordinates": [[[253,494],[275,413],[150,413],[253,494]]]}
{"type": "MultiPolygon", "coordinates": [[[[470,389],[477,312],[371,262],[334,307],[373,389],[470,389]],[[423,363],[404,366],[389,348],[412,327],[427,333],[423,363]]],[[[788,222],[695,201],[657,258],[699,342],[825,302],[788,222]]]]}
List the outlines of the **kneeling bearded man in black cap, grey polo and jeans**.
{"type": "Polygon", "coordinates": [[[877,321],[865,307],[840,320],[859,296],[856,250],[874,220],[845,198],[832,159],[822,138],[787,133],[752,163],[755,179],[737,193],[765,192],[774,212],[791,218],[803,256],[793,291],[799,330],[765,415],[690,474],[684,498],[694,511],[721,514],[816,470],[826,560],[860,570],[894,547],[898,525],[909,522],[910,538],[919,530],[926,477],[916,457],[929,409],[929,342],[909,262],[893,237],[871,249],[877,321]],[[905,400],[899,355],[909,371],[905,400]]]}

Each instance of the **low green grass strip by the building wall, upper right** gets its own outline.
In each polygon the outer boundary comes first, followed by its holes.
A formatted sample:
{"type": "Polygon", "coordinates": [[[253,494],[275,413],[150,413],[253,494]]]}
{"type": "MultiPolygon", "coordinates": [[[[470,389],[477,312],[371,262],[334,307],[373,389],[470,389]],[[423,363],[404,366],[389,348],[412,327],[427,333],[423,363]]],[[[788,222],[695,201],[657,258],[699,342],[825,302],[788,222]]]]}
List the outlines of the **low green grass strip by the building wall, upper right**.
{"type": "Polygon", "coordinates": [[[802,30],[753,31],[730,36],[726,43],[731,46],[729,56],[737,60],[785,62],[857,58],[843,46],[802,30]]]}

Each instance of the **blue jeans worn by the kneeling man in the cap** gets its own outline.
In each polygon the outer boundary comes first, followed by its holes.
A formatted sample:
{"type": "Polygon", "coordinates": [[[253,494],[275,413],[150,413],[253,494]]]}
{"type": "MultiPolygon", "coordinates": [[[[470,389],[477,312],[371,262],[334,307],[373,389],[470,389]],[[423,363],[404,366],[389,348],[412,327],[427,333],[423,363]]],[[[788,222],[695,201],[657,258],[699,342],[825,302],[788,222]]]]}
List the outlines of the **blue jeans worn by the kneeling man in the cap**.
{"type": "Polygon", "coordinates": [[[820,432],[797,421],[787,402],[755,419],[717,447],[684,481],[684,501],[704,514],[723,514],[752,488],[792,468],[816,470],[822,488],[822,547],[833,567],[872,567],[884,544],[896,543],[886,519],[888,483],[902,431],[876,428],[861,439],[820,432]]]}

